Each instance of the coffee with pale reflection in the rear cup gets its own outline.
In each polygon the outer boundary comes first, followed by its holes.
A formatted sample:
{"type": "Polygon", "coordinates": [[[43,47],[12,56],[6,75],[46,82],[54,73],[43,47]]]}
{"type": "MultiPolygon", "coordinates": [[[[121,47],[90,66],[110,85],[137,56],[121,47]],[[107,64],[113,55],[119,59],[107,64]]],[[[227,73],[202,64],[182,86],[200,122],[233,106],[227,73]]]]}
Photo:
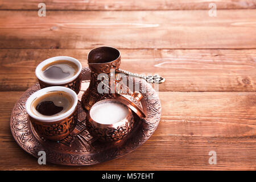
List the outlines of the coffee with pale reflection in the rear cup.
{"type": "Polygon", "coordinates": [[[44,65],[41,76],[46,80],[65,80],[76,75],[79,68],[75,63],[68,60],[57,60],[44,65]]]}

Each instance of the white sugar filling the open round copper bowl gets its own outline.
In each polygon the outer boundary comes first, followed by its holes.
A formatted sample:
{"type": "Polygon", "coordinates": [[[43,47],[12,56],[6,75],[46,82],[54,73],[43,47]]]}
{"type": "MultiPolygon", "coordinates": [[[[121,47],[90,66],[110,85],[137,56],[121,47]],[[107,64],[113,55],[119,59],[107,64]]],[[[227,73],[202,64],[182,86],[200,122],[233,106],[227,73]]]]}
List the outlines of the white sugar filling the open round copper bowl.
{"type": "Polygon", "coordinates": [[[90,109],[90,117],[94,121],[106,125],[121,121],[128,113],[128,107],[120,102],[103,102],[90,109]]]}

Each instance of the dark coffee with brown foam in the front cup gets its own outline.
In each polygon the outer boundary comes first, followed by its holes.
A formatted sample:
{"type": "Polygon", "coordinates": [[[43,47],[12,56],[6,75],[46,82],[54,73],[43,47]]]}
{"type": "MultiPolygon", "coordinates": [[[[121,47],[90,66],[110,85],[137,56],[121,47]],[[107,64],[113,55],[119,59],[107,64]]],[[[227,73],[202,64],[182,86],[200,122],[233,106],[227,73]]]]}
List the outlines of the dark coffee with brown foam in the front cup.
{"type": "Polygon", "coordinates": [[[38,117],[55,117],[71,109],[73,97],[64,91],[51,91],[35,98],[31,111],[38,117]]]}

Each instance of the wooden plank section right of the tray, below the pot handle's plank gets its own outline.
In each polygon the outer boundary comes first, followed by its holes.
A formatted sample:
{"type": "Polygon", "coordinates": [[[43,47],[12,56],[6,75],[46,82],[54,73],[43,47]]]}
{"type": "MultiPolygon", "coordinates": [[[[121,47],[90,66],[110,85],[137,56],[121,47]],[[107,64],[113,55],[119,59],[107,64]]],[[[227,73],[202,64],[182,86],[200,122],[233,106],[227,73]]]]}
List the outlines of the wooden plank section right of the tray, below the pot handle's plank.
{"type": "Polygon", "coordinates": [[[204,137],[255,135],[255,92],[159,92],[159,98],[162,104],[163,126],[159,135],[204,137]],[[164,127],[164,125],[171,126],[170,124],[176,125],[177,129],[180,126],[189,125],[188,132],[176,131],[176,127],[164,127]],[[195,132],[192,129],[195,129],[195,132]],[[171,133],[167,133],[170,131],[171,133]]]}

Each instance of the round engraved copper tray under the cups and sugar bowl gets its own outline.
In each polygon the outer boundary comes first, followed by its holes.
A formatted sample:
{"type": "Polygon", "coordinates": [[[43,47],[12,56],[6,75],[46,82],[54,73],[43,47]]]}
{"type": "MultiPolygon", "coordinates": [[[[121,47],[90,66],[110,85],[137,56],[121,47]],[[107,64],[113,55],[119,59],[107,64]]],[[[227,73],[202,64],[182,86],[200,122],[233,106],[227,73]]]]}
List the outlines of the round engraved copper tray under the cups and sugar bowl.
{"type": "MultiPolygon", "coordinates": [[[[11,133],[19,146],[36,158],[38,158],[39,151],[45,151],[47,163],[87,166],[120,158],[135,150],[150,138],[158,126],[161,114],[160,100],[152,86],[140,78],[129,77],[129,79],[133,79],[134,84],[148,85],[146,93],[143,93],[144,98],[142,100],[146,118],[137,118],[133,132],[122,142],[102,143],[93,138],[86,130],[86,112],[82,109],[80,101],[78,109],[79,123],[68,137],[59,142],[51,142],[40,138],[31,126],[25,109],[27,98],[40,89],[38,83],[29,88],[16,102],[10,118],[11,133]]],[[[82,93],[88,88],[89,80],[90,70],[89,68],[83,68],[79,100],[82,93]]]]}

